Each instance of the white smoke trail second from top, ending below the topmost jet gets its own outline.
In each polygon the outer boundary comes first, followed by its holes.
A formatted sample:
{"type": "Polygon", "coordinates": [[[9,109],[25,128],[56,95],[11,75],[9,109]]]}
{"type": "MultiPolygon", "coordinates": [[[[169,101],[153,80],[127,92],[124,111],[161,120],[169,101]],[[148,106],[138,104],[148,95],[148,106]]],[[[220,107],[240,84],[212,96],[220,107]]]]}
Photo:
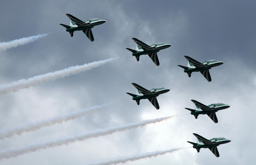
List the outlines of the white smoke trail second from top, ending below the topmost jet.
{"type": "Polygon", "coordinates": [[[106,64],[106,63],[111,62],[116,59],[117,58],[109,58],[109,59],[102,60],[102,61],[94,61],[92,63],[84,64],[81,66],[77,65],[76,67],[69,67],[69,68],[66,68],[63,70],[49,72],[44,75],[36,75],[29,79],[21,79],[19,81],[12,82],[11,84],[0,85],[0,95],[11,92],[11,91],[17,92],[18,90],[23,89],[23,88],[29,88],[31,86],[43,84],[47,81],[54,81],[57,78],[64,78],[71,74],[84,72],[86,70],[90,70],[94,67],[99,67],[100,65],[106,64]]]}

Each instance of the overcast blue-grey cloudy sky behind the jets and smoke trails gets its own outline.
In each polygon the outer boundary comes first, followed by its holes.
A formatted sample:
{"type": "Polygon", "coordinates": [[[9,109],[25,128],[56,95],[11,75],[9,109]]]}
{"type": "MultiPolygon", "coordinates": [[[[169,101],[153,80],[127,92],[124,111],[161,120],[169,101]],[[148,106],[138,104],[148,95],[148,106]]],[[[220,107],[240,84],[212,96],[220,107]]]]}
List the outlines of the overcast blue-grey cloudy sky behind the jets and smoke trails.
{"type": "Polygon", "coordinates": [[[71,66],[108,58],[118,59],[86,72],[59,78],[28,89],[0,95],[0,129],[38,122],[54,116],[106,105],[93,113],[61,124],[0,140],[1,150],[106,127],[175,116],[166,121],[2,159],[0,164],[76,165],[101,159],[185,148],[173,153],[126,162],[125,165],[254,164],[256,120],[256,2],[191,0],[61,0],[3,1],[0,3],[0,43],[47,34],[32,43],[0,51],[0,84],[46,74],[71,66]],[[92,29],[94,41],[83,32],[71,38],[65,14],[106,23],[92,29]],[[148,55],[140,61],[125,48],[135,49],[131,38],[151,45],[170,43],[158,52],[160,66],[148,55]],[[197,61],[210,59],[224,64],[209,70],[208,82],[200,72],[189,78],[177,65],[183,56],[197,61]],[[128,93],[131,83],[150,90],[172,88],[157,97],[160,109],[148,100],[140,105],[128,93]],[[198,119],[185,107],[191,99],[209,105],[232,105],[218,111],[218,123],[207,115],[198,119]],[[176,116],[177,115],[177,116],[176,116]],[[207,139],[225,137],[218,146],[220,157],[209,149],[200,153],[186,141],[197,133],[207,139]]]}

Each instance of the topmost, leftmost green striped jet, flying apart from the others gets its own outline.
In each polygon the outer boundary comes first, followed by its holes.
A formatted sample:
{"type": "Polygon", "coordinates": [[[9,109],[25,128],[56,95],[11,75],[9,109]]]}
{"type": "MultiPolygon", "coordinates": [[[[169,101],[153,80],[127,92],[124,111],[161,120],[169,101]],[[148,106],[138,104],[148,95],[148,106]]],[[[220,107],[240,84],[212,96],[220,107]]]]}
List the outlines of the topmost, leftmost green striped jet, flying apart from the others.
{"type": "Polygon", "coordinates": [[[93,38],[93,33],[92,33],[92,28],[94,26],[100,25],[102,23],[105,23],[106,20],[100,20],[99,18],[93,18],[90,20],[87,20],[85,22],[79,20],[78,18],[74,17],[71,14],[66,14],[67,17],[70,18],[70,26],[64,25],[64,24],[60,24],[61,26],[64,26],[67,32],[70,33],[71,37],[73,37],[73,33],[75,31],[83,31],[84,34],[89,38],[90,41],[94,41],[93,38]]]}

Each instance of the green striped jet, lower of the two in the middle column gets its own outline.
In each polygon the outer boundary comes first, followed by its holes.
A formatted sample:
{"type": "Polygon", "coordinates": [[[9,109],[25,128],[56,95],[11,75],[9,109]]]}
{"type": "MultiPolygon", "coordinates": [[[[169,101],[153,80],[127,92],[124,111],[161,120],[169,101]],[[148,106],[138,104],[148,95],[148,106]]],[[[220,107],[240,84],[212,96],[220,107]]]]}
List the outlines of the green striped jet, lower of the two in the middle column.
{"type": "Polygon", "coordinates": [[[146,90],[145,88],[141,87],[138,84],[131,83],[135,88],[137,88],[137,95],[132,93],[127,93],[128,95],[132,96],[133,100],[136,100],[137,104],[140,105],[141,99],[148,99],[151,104],[154,105],[154,107],[158,110],[159,104],[157,102],[157,96],[160,94],[169,92],[170,89],[168,88],[153,88],[152,90],[146,90]]]}

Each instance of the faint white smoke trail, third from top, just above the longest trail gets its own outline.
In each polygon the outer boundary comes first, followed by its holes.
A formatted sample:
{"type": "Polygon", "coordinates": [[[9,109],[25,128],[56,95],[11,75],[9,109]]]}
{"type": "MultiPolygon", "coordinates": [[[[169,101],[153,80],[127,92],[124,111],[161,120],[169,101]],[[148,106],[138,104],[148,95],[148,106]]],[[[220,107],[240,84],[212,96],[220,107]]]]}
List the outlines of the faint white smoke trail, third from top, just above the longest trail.
{"type": "Polygon", "coordinates": [[[95,110],[104,107],[106,104],[103,105],[96,105],[84,110],[73,111],[64,115],[55,116],[51,119],[44,119],[40,122],[32,122],[25,125],[20,125],[17,127],[8,128],[5,130],[0,130],[0,139],[9,138],[14,136],[15,134],[21,135],[24,132],[32,132],[38,130],[42,127],[49,127],[54,124],[60,124],[62,122],[67,122],[68,120],[73,120],[76,117],[83,116],[87,113],[94,112],[95,110]]]}

